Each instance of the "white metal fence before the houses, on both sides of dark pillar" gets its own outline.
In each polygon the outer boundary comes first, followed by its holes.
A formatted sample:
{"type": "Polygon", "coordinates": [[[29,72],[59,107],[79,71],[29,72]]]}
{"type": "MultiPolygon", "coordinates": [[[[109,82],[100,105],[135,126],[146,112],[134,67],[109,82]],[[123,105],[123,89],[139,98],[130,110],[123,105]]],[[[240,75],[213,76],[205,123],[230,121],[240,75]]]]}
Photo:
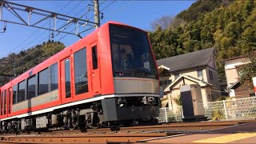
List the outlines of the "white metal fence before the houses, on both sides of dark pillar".
{"type": "MultiPolygon", "coordinates": [[[[256,97],[201,103],[198,111],[212,120],[256,118],[256,97]]],[[[165,107],[160,109],[158,122],[182,122],[182,118],[182,106],[165,107]]]]}

